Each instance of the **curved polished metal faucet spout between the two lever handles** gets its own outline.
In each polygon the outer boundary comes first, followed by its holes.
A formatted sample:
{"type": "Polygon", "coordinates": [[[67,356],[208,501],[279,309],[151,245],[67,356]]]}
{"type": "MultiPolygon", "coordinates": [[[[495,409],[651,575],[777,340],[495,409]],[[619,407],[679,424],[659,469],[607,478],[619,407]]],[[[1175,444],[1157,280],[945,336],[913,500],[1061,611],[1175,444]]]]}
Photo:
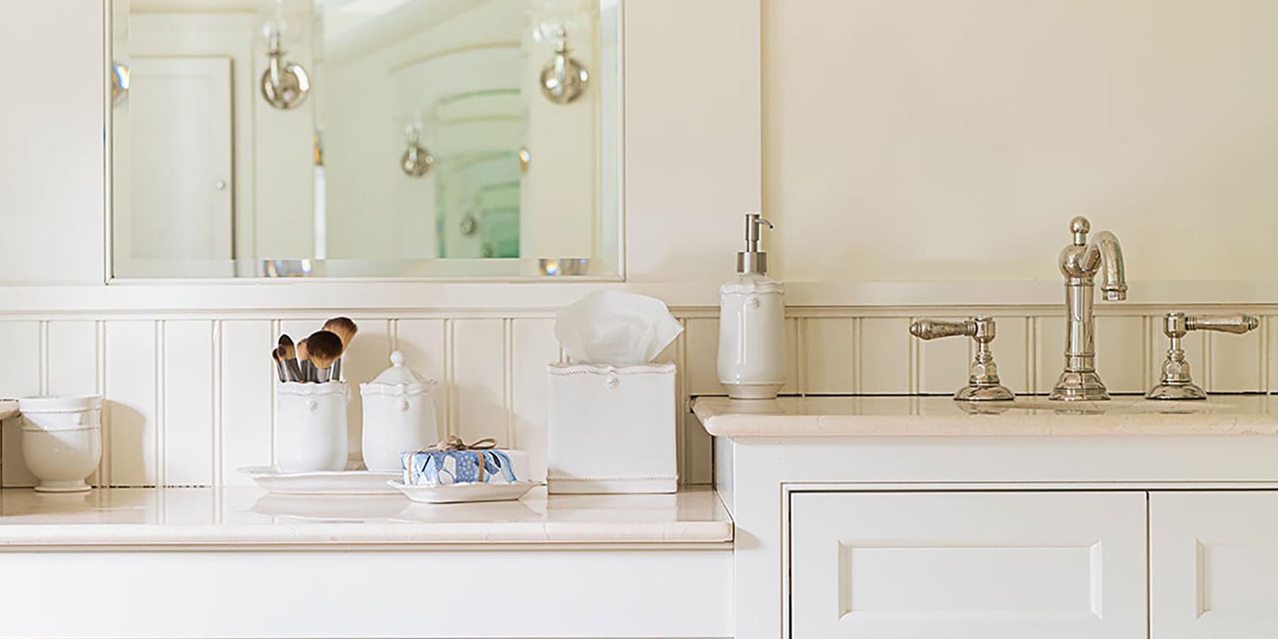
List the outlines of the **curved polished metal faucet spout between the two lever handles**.
{"type": "Polygon", "coordinates": [[[1100,293],[1105,302],[1127,299],[1127,281],[1123,276],[1122,247],[1109,231],[1097,233],[1088,242],[1091,222],[1086,217],[1070,221],[1074,243],[1061,252],[1061,272],[1065,275],[1065,371],[1056,381],[1048,399],[1081,401],[1107,400],[1109,392],[1097,374],[1095,331],[1091,314],[1097,273],[1104,268],[1100,293]]]}

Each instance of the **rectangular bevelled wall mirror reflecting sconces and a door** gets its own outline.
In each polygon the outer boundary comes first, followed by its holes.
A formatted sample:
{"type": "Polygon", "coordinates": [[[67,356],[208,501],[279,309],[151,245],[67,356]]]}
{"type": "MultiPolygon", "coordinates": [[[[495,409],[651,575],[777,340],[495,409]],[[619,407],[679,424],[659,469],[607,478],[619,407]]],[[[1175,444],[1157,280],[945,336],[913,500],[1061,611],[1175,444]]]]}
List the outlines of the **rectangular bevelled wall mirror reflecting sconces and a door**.
{"type": "Polygon", "coordinates": [[[111,271],[619,277],[622,0],[111,0],[111,271]]]}

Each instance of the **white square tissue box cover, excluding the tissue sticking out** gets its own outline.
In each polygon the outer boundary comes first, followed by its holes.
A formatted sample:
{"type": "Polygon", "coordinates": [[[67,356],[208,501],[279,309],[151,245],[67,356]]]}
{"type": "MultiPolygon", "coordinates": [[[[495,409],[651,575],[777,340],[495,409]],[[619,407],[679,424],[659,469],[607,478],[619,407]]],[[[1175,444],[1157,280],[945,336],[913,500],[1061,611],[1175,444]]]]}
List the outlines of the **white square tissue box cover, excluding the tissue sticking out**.
{"type": "Polygon", "coordinates": [[[675,364],[551,364],[552,493],[675,492],[675,364]]]}

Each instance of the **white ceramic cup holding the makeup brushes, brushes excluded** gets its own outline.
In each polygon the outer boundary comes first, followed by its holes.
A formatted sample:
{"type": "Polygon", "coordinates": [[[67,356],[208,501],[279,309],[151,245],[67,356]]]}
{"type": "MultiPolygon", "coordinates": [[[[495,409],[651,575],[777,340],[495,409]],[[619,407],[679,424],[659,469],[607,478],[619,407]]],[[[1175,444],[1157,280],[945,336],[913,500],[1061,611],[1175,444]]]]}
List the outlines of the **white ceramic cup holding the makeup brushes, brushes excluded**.
{"type": "Polygon", "coordinates": [[[346,382],[275,386],[275,465],[284,473],[346,468],[346,382]]]}

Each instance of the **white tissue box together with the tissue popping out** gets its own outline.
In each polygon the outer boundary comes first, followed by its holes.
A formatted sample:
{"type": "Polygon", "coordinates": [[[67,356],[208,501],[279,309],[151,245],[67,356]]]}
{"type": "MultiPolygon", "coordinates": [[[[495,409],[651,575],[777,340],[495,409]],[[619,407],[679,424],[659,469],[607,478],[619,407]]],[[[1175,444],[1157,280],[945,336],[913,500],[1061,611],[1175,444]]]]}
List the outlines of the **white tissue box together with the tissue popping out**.
{"type": "Polygon", "coordinates": [[[571,363],[550,364],[550,492],[675,492],[675,364],[684,331],[659,299],[596,291],[560,311],[571,363]]]}

